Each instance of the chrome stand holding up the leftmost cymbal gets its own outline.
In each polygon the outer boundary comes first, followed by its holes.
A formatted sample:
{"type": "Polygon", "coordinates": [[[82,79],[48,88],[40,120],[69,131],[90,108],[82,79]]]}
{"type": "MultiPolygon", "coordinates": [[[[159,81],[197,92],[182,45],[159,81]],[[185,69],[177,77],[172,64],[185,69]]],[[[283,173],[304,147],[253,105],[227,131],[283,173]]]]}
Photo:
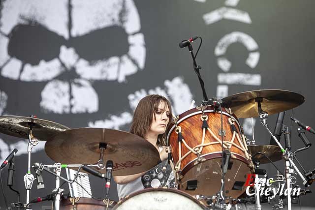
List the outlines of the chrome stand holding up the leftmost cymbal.
{"type": "Polygon", "coordinates": [[[35,147],[38,144],[39,140],[36,139],[32,135],[32,122],[30,122],[30,134],[29,134],[29,144],[28,144],[28,172],[24,176],[24,184],[26,188],[26,205],[27,209],[32,209],[31,205],[28,205],[30,203],[30,194],[31,194],[31,188],[34,181],[34,175],[31,174],[31,153],[32,148],[35,147]]]}

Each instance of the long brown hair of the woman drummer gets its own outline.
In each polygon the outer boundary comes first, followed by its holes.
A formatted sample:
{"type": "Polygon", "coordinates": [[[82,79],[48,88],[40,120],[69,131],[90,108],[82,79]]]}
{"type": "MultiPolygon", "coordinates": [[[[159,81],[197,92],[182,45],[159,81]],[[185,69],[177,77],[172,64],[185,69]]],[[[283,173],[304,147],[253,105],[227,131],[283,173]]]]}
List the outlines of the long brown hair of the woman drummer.
{"type": "MultiPolygon", "coordinates": [[[[136,134],[142,138],[145,138],[145,135],[148,133],[151,127],[153,116],[155,118],[155,114],[158,110],[158,105],[161,102],[165,103],[165,107],[162,112],[164,112],[167,107],[170,112],[168,116],[169,121],[168,121],[168,124],[166,125],[166,129],[167,129],[172,121],[171,103],[165,97],[161,95],[147,95],[139,101],[137,108],[134,111],[129,132],[136,134]]],[[[164,140],[165,140],[165,133],[158,135],[157,144],[159,146],[165,145],[166,143],[164,140]]]]}

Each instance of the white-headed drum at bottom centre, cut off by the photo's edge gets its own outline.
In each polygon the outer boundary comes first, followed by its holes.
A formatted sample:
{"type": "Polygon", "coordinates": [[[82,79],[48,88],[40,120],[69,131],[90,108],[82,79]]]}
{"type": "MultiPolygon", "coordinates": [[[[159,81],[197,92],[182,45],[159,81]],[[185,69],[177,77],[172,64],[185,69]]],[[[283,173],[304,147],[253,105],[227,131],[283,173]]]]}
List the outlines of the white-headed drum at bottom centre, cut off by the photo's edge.
{"type": "Polygon", "coordinates": [[[171,188],[147,188],[132,193],[118,202],[113,210],[205,210],[189,194],[171,188]]]}

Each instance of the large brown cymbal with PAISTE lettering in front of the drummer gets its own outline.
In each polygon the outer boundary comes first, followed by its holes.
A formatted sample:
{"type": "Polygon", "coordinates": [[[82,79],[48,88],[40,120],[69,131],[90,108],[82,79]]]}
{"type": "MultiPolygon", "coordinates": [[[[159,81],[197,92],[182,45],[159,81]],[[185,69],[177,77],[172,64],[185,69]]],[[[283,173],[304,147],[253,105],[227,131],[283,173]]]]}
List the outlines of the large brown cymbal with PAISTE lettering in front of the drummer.
{"type": "MultiPolygon", "coordinates": [[[[100,143],[107,145],[103,160],[105,164],[113,161],[114,176],[138,174],[160,161],[158,150],[147,140],[107,128],[75,128],[57,133],[47,140],[45,151],[62,164],[95,164],[100,157],[100,143]]],[[[106,173],[106,169],[99,171],[106,173]]]]}

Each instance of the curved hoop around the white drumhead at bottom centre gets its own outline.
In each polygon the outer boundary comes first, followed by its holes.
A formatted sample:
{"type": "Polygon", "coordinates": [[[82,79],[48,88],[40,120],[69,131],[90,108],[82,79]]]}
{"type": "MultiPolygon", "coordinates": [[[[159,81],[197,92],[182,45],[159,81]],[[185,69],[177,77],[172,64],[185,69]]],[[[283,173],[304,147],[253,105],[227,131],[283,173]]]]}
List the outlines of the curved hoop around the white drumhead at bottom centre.
{"type": "Polygon", "coordinates": [[[180,195],[185,196],[186,198],[189,198],[190,200],[192,200],[194,203],[198,204],[200,207],[202,207],[203,209],[206,210],[206,207],[203,205],[203,203],[199,200],[197,200],[196,198],[194,198],[193,196],[189,195],[187,192],[178,190],[178,189],[173,189],[173,188],[166,188],[166,187],[153,187],[153,188],[145,188],[142,190],[138,190],[136,192],[133,192],[129,195],[127,195],[126,197],[122,198],[117,205],[113,208],[113,210],[116,210],[116,208],[118,208],[122,203],[124,203],[126,200],[129,200],[130,198],[137,196],[139,194],[145,193],[145,192],[152,192],[152,191],[166,191],[166,192],[174,192],[180,195]]]}

